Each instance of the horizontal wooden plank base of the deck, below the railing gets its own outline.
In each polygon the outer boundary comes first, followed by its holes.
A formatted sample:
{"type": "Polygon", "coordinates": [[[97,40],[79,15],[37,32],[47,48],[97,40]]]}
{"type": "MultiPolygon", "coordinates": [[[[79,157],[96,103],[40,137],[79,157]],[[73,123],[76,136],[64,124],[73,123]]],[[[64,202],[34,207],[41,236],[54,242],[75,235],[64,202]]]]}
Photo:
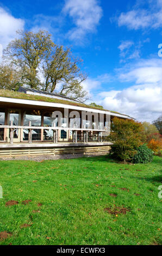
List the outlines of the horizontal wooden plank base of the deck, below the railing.
{"type": "Polygon", "coordinates": [[[76,153],[100,153],[107,154],[110,150],[110,142],[89,142],[89,143],[4,143],[0,145],[0,157],[14,156],[35,156],[35,155],[59,155],[76,153]]]}

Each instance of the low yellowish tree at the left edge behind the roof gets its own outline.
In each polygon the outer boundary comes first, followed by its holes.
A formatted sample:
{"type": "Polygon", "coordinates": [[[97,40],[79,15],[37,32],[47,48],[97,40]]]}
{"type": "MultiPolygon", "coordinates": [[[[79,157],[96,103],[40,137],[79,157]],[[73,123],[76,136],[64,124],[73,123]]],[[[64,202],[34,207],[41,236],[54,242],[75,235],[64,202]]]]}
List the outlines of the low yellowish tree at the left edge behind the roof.
{"type": "Polygon", "coordinates": [[[0,65],[0,89],[18,89],[21,85],[21,74],[13,65],[0,65]]]}

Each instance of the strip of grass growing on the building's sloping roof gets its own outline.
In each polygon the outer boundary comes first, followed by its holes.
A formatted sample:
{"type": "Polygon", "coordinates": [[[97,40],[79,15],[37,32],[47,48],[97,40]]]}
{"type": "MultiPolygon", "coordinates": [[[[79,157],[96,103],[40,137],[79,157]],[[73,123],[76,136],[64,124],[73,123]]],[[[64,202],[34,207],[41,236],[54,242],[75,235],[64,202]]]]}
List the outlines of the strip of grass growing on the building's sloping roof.
{"type": "MultiPolygon", "coordinates": [[[[90,105],[86,105],[84,103],[79,103],[79,102],[77,103],[77,102],[72,102],[72,101],[68,101],[68,100],[53,99],[51,97],[46,97],[46,96],[39,96],[39,95],[32,95],[32,94],[14,92],[13,90],[2,90],[1,89],[0,90],[0,97],[9,97],[9,98],[13,98],[13,99],[36,100],[36,101],[62,103],[62,104],[67,104],[67,105],[72,105],[72,106],[94,108],[94,109],[99,109],[99,110],[103,110],[103,111],[108,111],[108,109],[93,107],[93,106],[90,106],[90,105]]],[[[115,111],[110,111],[110,112],[120,114],[120,113],[115,112],[115,111]]]]}

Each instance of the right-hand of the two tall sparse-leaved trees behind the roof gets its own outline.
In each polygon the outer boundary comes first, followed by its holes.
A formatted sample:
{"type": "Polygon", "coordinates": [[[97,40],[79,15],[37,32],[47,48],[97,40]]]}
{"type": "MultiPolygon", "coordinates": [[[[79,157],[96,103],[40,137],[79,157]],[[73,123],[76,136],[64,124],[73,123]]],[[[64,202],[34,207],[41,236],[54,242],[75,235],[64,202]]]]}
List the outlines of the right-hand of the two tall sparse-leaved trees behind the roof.
{"type": "Polygon", "coordinates": [[[59,83],[59,94],[84,102],[87,93],[81,83],[86,75],[78,67],[81,62],[72,56],[69,48],[64,50],[63,46],[53,47],[51,56],[43,64],[45,90],[52,93],[59,83]]]}

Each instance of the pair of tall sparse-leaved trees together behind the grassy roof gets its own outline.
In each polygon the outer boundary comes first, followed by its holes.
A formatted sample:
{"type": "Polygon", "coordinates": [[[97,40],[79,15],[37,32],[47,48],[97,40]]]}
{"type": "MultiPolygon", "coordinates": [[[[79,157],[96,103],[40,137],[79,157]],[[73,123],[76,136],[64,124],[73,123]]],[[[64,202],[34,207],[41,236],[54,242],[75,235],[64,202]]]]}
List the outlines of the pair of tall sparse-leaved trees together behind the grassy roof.
{"type": "Polygon", "coordinates": [[[84,102],[88,97],[79,68],[82,60],[74,58],[69,48],[55,45],[46,31],[22,32],[4,50],[4,59],[21,72],[24,86],[57,92],[84,102]]]}

